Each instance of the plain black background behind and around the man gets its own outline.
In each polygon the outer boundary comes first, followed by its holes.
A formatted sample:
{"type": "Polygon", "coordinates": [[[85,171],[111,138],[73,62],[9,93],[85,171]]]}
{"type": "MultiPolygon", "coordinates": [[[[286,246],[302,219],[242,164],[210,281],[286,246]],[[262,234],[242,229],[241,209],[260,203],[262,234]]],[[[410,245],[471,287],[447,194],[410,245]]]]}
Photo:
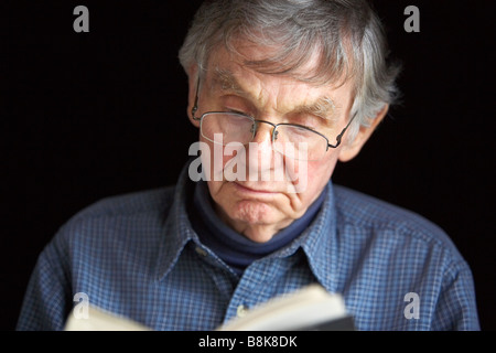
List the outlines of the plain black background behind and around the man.
{"type": "MultiPolygon", "coordinates": [[[[3,331],[64,222],[101,197],[175,182],[197,135],[176,56],[198,3],[2,2],[3,331]],[[89,33],[73,30],[78,4],[89,33]]],[[[333,180],[445,229],[472,267],[482,328],[495,330],[492,1],[374,3],[403,63],[402,104],[333,180]],[[409,4],[420,33],[403,30],[409,4]]]]}

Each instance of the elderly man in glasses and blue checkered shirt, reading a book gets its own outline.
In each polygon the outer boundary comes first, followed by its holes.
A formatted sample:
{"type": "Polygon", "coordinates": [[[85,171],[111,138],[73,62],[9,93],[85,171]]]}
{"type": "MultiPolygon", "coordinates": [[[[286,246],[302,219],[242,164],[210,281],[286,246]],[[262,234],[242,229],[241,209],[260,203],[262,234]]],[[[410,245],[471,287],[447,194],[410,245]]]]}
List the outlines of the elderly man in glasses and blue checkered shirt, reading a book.
{"type": "Polygon", "coordinates": [[[395,101],[386,53],[367,1],[206,1],[180,52],[201,157],[174,188],[104,200],[64,225],[18,328],[63,329],[85,293],[154,330],[212,330],[316,282],[358,330],[478,330],[449,237],[331,182],[395,101]]]}

